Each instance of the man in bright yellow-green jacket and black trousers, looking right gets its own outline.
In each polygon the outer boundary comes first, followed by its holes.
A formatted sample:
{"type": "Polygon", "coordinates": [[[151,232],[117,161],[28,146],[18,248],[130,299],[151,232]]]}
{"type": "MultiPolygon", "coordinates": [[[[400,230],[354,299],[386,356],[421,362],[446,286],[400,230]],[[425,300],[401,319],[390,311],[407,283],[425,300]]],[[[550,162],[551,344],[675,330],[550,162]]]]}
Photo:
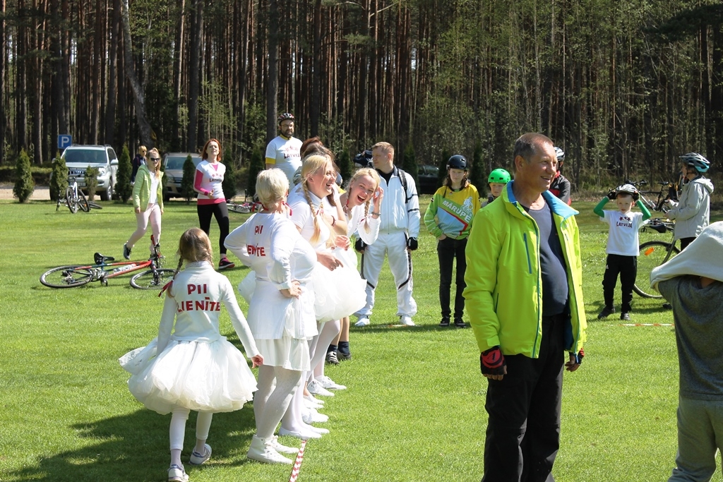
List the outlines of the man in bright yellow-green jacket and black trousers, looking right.
{"type": "Polygon", "coordinates": [[[464,296],[488,379],[484,482],[554,481],[562,367],[583,358],[577,211],[548,191],[554,146],[542,134],[517,139],[515,179],[477,212],[466,248],[464,296]]]}

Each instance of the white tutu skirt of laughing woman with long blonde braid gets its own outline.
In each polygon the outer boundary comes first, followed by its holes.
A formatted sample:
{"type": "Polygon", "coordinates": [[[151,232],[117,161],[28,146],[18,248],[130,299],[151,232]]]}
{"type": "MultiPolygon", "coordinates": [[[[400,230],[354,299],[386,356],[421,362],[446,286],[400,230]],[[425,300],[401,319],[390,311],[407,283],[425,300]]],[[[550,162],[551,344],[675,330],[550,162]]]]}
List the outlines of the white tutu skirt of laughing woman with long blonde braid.
{"type": "Polygon", "coordinates": [[[348,317],[367,304],[367,281],[359,276],[356,267],[346,263],[333,271],[317,263],[312,272],[312,284],[317,322],[348,317]]]}

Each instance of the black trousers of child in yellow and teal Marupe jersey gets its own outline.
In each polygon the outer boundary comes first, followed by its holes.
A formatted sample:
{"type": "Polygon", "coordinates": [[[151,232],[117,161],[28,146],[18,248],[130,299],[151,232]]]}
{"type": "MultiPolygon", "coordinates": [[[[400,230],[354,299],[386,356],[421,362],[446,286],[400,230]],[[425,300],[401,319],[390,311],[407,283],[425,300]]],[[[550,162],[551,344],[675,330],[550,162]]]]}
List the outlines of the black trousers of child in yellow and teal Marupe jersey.
{"type": "Polygon", "coordinates": [[[464,314],[464,296],[462,296],[462,292],[467,286],[464,283],[464,272],[467,270],[467,259],[464,257],[466,246],[467,238],[444,238],[437,241],[437,257],[440,259],[440,306],[442,307],[442,318],[449,318],[451,314],[450,289],[452,288],[452,268],[455,259],[457,259],[457,293],[454,298],[454,317],[455,319],[461,319],[464,314]]]}

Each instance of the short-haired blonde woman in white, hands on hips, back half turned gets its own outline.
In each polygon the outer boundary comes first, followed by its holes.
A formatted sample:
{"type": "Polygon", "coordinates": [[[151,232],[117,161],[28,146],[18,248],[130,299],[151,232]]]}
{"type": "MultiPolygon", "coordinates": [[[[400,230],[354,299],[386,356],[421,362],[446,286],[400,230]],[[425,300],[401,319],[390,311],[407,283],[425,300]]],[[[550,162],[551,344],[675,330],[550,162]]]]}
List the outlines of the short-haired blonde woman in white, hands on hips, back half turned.
{"type": "Polygon", "coordinates": [[[279,444],[273,434],[309,370],[308,341],[317,334],[311,288],[316,254],[288,218],[283,171],[261,171],[256,193],[264,209],[226,237],[226,247],[255,273],[249,326],[264,356],[254,396],[256,434],[247,457],[291,463],[278,452],[296,449],[279,444]]]}

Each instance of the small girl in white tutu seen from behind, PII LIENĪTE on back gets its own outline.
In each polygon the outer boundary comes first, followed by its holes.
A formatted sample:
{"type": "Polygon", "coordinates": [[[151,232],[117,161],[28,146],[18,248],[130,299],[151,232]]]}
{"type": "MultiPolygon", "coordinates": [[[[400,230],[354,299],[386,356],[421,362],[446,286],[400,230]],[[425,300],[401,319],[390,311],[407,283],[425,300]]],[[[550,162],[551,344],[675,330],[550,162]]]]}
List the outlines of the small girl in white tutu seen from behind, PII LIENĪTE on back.
{"type": "Polygon", "coordinates": [[[166,301],[158,337],[119,359],[132,374],[128,388],[133,396],[161,415],[172,413],[168,482],[188,481],[181,449],[189,411],[198,411],[196,446],[189,460],[198,465],[211,456],[206,439],[213,413],[239,410],[252,400],[256,390],[256,379],[246,358],[218,330],[221,305],[226,306],[253,366],[264,361],[231,282],[213,269],[206,233],[198,228],[183,233],[178,255],[174,280],[164,288],[166,301]],[[184,261],[187,267],[179,272],[184,261]]]}

